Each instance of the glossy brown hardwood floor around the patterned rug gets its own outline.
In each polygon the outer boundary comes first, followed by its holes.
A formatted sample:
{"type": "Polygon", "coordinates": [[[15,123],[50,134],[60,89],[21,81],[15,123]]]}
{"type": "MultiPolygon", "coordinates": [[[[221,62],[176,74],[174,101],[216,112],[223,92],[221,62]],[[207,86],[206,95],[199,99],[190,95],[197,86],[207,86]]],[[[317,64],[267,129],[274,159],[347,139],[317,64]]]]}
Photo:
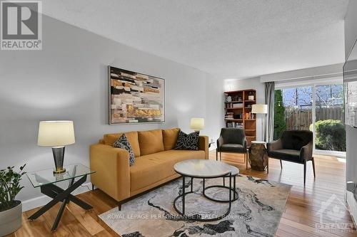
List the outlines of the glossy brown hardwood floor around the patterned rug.
{"type": "MultiPolygon", "coordinates": [[[[352,223],[353,221],[344,205],[345,163],[338,161],[336,157],[318,155],[315,157],[316,179],[313,179],[312,165],[308,162],[304,187],[302,165],[283,162],[283,169],[281,169],[278,160],[269,159],[269,174],[266,174],[266,172],[251,169],[246,170],[243,155],[222,154],[223,161],[238,167],[241,174],[293,185],[276,236],[357,236],[353,228],[333,233],[316,228],[316,224],[319,223],[318,211],[321,209],[321,203],[327,201],[333,194],[336,195],[336,199],[332,201],[332,206],[340,209],[341,213],[341,216],[338,216],[341,218],[338,223],[352,223]]],[[[210,152],[210,159],[216,159],[215,151],[210,152]]],[[[54,233],[51,233],[51,226],[59,205],[54,206],[35,221],[28,221],[27,217],[38,209],[26,211],[23,214],[23,226],[10,236],[118,236],[98,217],[99,214],[116,206],[114,199],[98,189],[80,194],[79,198],[94,206],[94,210],[86,212],[76,204],[69,204],[61,218],[59,228],[54,233]]]]}

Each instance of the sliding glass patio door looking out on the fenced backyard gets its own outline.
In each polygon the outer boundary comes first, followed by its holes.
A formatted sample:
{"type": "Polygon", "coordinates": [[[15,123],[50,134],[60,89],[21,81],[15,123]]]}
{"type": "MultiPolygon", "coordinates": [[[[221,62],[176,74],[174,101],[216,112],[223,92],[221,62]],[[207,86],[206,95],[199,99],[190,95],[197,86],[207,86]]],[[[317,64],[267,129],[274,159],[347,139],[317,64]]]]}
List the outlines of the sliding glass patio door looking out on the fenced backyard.
{"type": "Polygon", "coordinates": [[[280,88],[275,91],[274,113],[274,139],[284,130],[311,130],[314,152],[346,152],[342,84],[280,88]]]}

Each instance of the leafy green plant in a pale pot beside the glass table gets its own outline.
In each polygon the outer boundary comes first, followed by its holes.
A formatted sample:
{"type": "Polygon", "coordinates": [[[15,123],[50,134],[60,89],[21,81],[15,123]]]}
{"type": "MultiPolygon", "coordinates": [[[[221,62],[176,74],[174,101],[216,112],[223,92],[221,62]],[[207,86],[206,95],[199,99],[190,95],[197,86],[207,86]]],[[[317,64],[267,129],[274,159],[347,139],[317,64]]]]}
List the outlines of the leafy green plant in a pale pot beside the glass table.
{"type": "MultiPolygon", "coordinates": [[[[26,165],[26,164],[25,164],[26,165]]],[[[14,167],[0,170],[0,236],[6,236],[21,227],[22,204],[15,197],[24,188],[20,186],[24,166],[20,172],[14,167]]]]}

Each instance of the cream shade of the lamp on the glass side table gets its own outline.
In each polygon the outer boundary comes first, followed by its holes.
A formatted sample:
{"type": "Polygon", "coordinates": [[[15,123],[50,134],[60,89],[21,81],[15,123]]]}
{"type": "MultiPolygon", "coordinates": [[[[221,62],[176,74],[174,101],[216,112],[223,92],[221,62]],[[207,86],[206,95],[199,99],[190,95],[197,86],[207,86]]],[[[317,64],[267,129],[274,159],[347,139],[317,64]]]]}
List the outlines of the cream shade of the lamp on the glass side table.
{"type": "Polygon", "coordinates": [[[63,147],[74,144],[73,121],[41,121],[39,123],[39,139],[41,147],[63,147]]]}

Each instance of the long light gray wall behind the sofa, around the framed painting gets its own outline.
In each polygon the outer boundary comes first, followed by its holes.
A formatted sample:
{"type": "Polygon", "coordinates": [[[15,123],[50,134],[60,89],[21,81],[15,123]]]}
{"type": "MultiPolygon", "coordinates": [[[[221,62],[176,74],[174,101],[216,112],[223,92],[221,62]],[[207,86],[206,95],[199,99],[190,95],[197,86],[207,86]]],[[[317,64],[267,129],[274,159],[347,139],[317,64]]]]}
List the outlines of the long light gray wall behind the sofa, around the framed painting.
{"type": "MultiPolygon", "coordinates": [[[[208,117],[202,134],[210,137],[216,138],[221,128],[222,82],[47,16],[42,51],[0,51],[0,80],[0,168],[24,163],[26,171],[54,167],[51,149],[36,145],[40,120],[74,120],[76,144],[66,147],[65,164],[86,165],[89,145],[104,133],[161,127],[189,132],[191,117],[208,117]],[[108,125],[108,65],[165,78],[166,122],[108,125]]],[[[26,177],[23,184],[19,199],[41,195],[26,177]]]]}

